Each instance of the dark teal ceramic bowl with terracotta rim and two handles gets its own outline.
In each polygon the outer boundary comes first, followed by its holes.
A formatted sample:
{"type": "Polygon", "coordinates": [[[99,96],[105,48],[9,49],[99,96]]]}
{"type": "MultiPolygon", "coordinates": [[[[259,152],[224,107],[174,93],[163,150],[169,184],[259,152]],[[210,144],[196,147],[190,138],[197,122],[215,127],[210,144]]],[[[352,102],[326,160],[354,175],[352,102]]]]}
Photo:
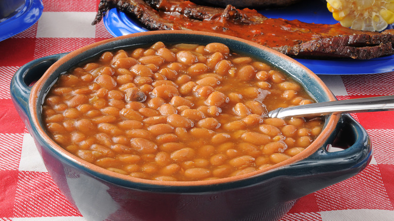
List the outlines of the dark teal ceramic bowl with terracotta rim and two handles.
{"type": "Polygon", "coordinates": [[[212,33],[143,32],[34,60],[15,73],[13,102],[48,173],[88,220],[277,220],[300,197],[358,174],[370,161],[370,138],[349,115],[327,116],[319,137],[290,159],[266,170],[210,181],[152,181],[117,174],[72,155],[46,134],[41,104],[62,73],[103,51],[157,41],[221,42],[282,69],[318,102],[335,100],[324,83],[298,62],[259,44],[212,33]],[[34,86],[29,86],[32,82],[34,86]],[[343,150],[329,152],[330,145],[343,150]]]}

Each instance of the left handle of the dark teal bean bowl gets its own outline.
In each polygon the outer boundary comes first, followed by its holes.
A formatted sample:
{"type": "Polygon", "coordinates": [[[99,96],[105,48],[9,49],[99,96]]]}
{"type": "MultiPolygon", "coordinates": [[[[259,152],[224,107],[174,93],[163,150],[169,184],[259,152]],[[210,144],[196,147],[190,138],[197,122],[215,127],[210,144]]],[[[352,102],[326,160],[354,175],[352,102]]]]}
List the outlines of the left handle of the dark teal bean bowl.
{"type": "MultiPolygon", "coordinates": [[[[30,91],[33,84],[59,59],[67,53],[54,54],[33,60],[18,69],[11,80],[11,98],[15,105],[18,105],[22,111],[28,113],[28,103],[30,91]]],[[[19,108],[17,108],[19,112],[19,108]]],[[[19,113],[21,114],[21,113],[19,113]]]]}

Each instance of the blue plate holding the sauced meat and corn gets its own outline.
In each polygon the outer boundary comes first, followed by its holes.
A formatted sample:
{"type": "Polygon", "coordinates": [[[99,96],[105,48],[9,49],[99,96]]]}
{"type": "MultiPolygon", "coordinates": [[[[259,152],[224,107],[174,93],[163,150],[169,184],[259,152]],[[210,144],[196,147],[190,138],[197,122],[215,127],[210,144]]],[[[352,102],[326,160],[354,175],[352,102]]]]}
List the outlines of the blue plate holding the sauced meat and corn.
{"type": "MultiPolygon", "coordinates": [[[[302,1],[292,7],[273,10],[259,10],[269,18],[300,20],[308,23],[335,24],[325,1],[302,1]]],[[[131,33],[149,31],[138,21],[128,17],[117,9],[109,10],[103,18],[107,30],[115,37],[131,33]]],[[[390,26],[392,28],[392,26],[390,26]]],[[[295,59],[316,74],[377,74],[394,71],[394,55],[370,60],[352,59],[295,59]]]]}

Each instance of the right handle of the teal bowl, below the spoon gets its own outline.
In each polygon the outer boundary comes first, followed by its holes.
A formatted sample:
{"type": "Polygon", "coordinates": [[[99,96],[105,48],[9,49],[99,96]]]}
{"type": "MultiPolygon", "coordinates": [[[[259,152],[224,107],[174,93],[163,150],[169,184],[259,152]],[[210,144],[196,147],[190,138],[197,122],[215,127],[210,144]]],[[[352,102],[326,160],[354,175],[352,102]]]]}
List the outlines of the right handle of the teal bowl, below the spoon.
{"type": "Polygon", "coordinates": [[[369,135],[349,114],[344,114],[326,147],[290,167],[301,169],[304,173],[309,169],[311,170],[309,172],[314,174],[336,172],[357,174],[367,166],[371,158],[372,144],[369,135]],[[343,150],[329,152],[327,150],[329,146],[340,147],[343,150]]]}

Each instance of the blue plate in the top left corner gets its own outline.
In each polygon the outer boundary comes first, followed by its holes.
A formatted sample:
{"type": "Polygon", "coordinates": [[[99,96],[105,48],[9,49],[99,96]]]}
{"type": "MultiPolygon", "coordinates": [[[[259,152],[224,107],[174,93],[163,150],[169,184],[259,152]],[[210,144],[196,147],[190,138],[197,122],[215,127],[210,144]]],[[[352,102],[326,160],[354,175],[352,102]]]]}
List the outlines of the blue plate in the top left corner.
{"type": "Polygon", "coordinates": [[[28,29],[39,19],[43,9],[41,0],[26,0],[25,4],[16,10],[16,14],[0,22],[0,41],[28,29]]]}

